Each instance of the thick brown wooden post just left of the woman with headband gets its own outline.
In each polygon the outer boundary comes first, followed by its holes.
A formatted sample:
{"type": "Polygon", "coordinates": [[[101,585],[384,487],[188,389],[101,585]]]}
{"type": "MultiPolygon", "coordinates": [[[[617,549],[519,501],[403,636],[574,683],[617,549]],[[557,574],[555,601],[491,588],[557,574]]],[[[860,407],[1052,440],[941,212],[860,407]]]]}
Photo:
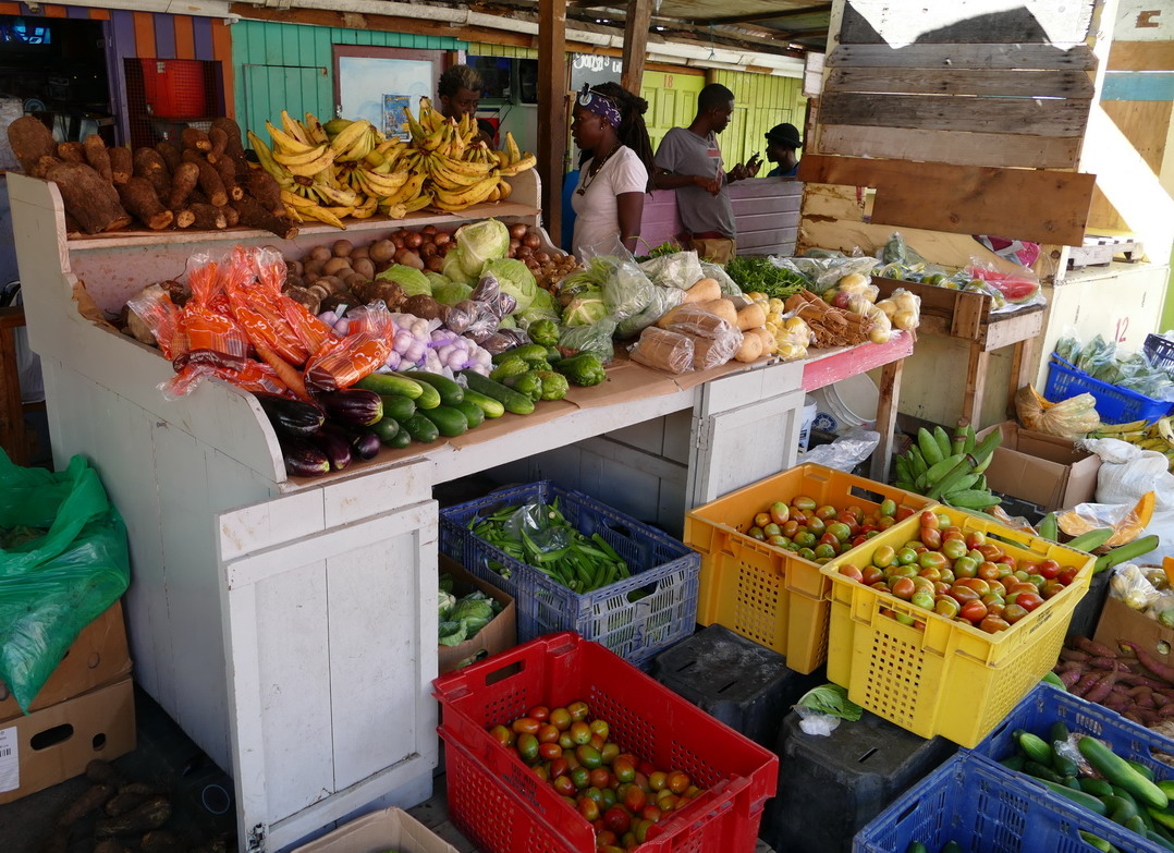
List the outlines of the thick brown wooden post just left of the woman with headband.
{"type": "Polygon", "coordinates": [[[538,174],[542,221],[555,243],[562,234],[562,159],[567,152],[567,0],[538,4],[538,174]]]}

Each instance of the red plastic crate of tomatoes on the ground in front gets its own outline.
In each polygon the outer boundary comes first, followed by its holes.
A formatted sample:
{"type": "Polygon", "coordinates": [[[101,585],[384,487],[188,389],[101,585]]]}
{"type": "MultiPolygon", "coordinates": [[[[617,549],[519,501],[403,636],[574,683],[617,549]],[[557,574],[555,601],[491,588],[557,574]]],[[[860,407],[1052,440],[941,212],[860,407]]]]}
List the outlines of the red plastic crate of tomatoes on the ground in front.
{"type": "Polygon", "coordinates": [[[487,853],[593,853],[595,831],[487,728],[585,700],[619,746],[704,788],[640,853],[753,853],[778,759],[576,633],[540,637],[436,680],[448,810],[487,853]]]}

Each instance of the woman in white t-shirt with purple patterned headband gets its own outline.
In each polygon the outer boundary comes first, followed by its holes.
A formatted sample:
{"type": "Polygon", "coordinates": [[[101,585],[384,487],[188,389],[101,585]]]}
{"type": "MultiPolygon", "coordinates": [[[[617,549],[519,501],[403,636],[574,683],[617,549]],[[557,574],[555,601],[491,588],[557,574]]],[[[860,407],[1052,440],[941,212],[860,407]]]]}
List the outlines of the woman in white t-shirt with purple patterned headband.
{"type": "Polygon", "coordinates": [[[579,172],[571,199],[575,211],[572,253],[599,246],[606,251],[615,237],[635,253],[645,194],[652,190],[653,149],[645,127],[648,102],[618,83],[583,86],[575,100],[571,135],[589,156],[579,172]]]}

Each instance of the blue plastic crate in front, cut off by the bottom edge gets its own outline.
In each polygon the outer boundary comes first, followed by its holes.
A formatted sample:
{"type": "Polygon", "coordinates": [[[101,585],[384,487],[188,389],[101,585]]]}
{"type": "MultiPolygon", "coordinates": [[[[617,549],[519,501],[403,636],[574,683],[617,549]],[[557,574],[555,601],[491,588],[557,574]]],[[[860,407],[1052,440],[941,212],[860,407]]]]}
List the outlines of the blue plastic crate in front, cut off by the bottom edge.
{"type": "Polygon", "coordinates": [[[911,841],[930,853],[947,841],[966,853],[1094,853],[1081,830],[1121,853],[1156,849],[1124,826],[959,752],[861,830],[852,853],[904,853],[911,841]]]}

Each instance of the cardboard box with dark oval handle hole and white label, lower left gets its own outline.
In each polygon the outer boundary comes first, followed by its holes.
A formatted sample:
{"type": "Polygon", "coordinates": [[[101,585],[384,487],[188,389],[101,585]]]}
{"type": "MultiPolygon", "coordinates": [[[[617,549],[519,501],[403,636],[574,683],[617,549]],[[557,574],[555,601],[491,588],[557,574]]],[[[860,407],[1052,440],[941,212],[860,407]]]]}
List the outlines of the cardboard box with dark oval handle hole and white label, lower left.
{"type": "Polygon", "coordinates": [[[129,678],[0,723],[0,805],[113,761],[135,748],[129,678]]]}

